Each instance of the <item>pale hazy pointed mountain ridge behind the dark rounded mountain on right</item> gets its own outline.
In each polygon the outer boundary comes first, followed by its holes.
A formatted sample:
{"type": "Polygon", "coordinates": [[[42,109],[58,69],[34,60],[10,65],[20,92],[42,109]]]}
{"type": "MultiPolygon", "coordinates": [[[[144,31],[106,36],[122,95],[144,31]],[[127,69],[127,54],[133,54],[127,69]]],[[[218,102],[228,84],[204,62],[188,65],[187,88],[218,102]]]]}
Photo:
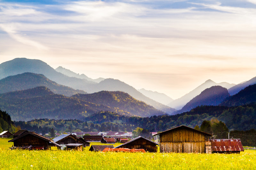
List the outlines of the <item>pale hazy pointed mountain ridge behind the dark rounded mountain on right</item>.
{"type": "Polygon", "coordinates": [[[201,92],[203,92],[205,89],[210,88],[215,85],[220,85],[222,87],[225,87],[229,89],[230,87],[234,86],[235,84],[229,84],[227,82],[222,82],[222,83],[215,83],[212,80],[207,80],[205,81],[202,85],[199,85],[196,87],[194,90],[191,92],[185,94],[179,99],[173,100],[171,103],[169,103],[167,106],[175,108],[175,109],[181,109],[184,107],[190,100],[192,100],[194,97],[199,95],[201,92]]]}

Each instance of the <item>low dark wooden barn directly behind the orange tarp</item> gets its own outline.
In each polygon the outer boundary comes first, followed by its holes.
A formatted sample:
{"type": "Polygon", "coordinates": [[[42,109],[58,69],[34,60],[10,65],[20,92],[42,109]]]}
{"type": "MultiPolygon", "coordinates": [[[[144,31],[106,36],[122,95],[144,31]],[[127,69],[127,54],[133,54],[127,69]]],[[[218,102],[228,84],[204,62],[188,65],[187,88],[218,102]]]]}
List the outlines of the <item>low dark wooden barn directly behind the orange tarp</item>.
{"type": "Polygon", "coordinates": [[[146,152],[157,152],[156,145],[158,144],[145,137],[139,136],[115,148],[144,149],[146,152]]]}

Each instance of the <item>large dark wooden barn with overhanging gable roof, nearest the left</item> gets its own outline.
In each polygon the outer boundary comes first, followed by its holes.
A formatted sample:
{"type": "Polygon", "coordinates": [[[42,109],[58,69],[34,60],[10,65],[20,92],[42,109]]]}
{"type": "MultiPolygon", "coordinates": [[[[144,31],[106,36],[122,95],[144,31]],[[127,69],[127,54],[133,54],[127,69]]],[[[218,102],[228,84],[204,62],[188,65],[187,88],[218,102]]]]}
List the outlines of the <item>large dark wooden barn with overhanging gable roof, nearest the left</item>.
{"type": "Polygon", "coordinates": [[[53,144],[54,146],[61,147],[56,144],[52,139],[43,137],[35,132],[25,132],[22,135],[9,140],[8,142],[13,142],[14,147],[21,149],[49,149],[53,144]]]}

